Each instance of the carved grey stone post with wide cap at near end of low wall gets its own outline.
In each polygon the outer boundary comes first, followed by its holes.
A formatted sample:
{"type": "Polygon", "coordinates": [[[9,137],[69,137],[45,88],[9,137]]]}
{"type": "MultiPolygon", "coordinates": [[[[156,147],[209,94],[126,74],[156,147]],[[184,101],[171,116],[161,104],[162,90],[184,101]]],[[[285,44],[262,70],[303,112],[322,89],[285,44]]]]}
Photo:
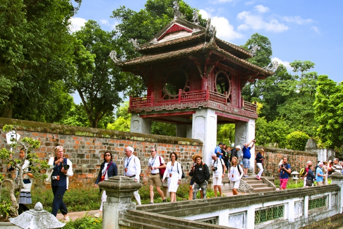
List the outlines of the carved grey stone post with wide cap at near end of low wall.
{"type": "Polygon", "coordinates": [[[119,229],[119,219],[126,210],[136,208],[131,197],[142,184],[128,177],[115,176],[100,182],[99,187],[107,194],[107,201],[103,204],[102,229],[119,229]]]}

